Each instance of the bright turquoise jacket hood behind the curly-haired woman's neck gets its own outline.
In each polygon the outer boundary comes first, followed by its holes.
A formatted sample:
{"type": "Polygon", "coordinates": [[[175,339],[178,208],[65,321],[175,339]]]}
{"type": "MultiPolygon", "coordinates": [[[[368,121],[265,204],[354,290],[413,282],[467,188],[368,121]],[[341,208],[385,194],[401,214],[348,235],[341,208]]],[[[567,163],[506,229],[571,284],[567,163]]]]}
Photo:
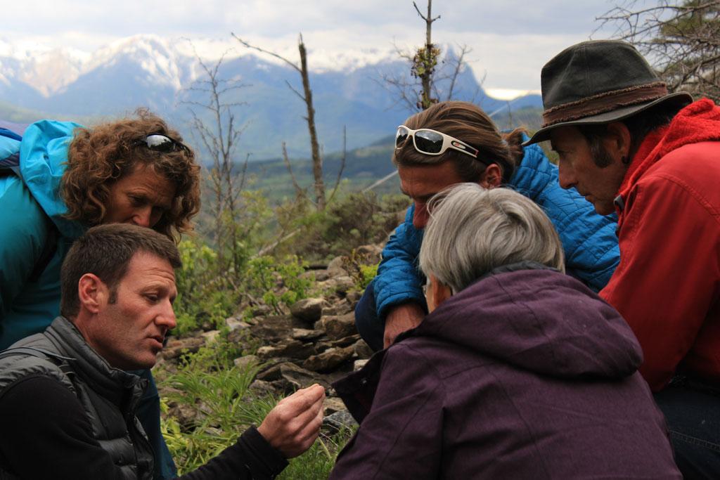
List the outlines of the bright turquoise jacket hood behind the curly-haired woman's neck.
{"type": "Polygon", "coordinates": [[[20,173],[30,193],[50,217],[63,237],[76,238],[84,227],[63,218],[68,209],[60,199],[60,180],[68,161],[73,122],[41,120],[27,127],[20,142],[20,173]]]}

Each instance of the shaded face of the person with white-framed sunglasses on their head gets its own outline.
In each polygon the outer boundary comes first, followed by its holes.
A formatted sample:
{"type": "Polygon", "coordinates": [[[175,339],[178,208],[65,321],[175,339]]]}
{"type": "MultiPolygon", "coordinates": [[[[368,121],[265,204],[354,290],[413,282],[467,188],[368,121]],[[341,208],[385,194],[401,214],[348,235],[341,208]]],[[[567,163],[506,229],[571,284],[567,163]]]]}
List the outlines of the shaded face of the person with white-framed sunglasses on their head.
{"type": "Polygon", "coordinates": [[[463,179],[449,161],[423,166],[398,166],[400,189],[415,203],[415,228],[424,228],[428,224],[427,202],[433,195],[454,184],[462,184],[463,179]]]}

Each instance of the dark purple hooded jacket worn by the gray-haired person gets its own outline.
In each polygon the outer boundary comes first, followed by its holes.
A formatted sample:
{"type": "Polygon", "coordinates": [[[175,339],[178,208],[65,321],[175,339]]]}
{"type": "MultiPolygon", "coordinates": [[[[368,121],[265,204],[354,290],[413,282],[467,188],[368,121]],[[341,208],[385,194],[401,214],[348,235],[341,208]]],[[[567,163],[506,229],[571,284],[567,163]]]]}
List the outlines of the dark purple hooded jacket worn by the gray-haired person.
{"type": "Polygon", "coordinates": [[[516,268],[333,385],[361,426],[330,479],[682,478],[620,314],[570,276],[516,268]]]}

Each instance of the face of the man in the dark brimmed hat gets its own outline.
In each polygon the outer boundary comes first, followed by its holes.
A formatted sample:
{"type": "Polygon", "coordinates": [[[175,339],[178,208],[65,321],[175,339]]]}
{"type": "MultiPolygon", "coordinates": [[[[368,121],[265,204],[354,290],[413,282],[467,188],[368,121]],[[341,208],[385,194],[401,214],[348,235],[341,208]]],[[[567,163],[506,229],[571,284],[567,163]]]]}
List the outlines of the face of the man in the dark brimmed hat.
{"type": "MultiPolygon", "coordinates": [[[[609,165],[598,167],[593,161],[590,144],[576,127],[560,127],[550,134],[552,149],[559,155],[559,183],[564,189],[575,187],[580,195],[595,205],[601,215],[615,212],[613,201],[618,195],[626,166],[618,155],[606,150],[603,159],[609,165]]],[[[605,145],[603,145],[605,148],[605,145]]]]}

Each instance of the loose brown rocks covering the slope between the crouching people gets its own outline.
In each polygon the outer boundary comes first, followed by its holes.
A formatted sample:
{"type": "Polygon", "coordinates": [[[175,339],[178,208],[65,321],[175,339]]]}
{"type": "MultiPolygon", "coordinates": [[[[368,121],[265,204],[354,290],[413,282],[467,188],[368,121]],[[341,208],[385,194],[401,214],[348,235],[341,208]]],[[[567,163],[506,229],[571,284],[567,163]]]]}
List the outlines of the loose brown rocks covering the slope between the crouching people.
{"type": "MultiPolygon", "coordinates": [[[[366,264],[379,262],[380,247],[367,245],[356,249],[366,264]]],[[[325,427],[336,430],[352,425],[341,399],[330,384],[357,370],[372,356],[372,350],[361,340],[354,323],[354,309],[360,299],[356,264],[347,257],[333,259],[327,266],[315,266],[305,275],[315,279],[311,298],[286,308],[286,314],[274,314],[266,305],[253,306],[253,316],[242,320],[230,317],[225,323],[228,340],[259,345],[255,355],[235,358],[235,365],[259,365],[251,390],[258,395],[284,397],[296,389],[312,384],[325,387],[325,427]],[[354,277],[355,276],[355,277],[354,277]]],[[[280,286],[282,288],[282,286],[280,286]]],[[[246,306],[239,306],[242,311],[246,306]]],[[[196,352],[220,335],[219,330],[205,330],[185,338],[170,338],[163,350],[162,363],[172,369],[181,355],[196,352]]],[[[161,388],[161,395],[163,394],[161,388]]],[[[181,423],[192,423],[197,409],[170,404],[171,415],[181,423]]]]}

